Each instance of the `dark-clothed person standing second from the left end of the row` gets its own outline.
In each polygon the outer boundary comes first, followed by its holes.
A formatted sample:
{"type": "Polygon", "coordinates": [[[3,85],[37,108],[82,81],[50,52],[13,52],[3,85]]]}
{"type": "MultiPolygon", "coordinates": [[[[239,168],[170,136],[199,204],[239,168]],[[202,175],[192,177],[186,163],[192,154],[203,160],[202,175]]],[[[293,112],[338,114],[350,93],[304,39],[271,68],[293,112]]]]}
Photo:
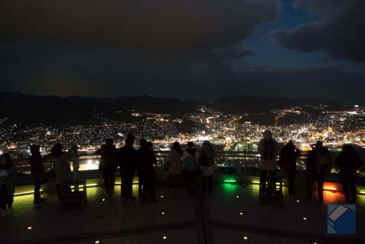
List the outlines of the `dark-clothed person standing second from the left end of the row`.
{"type": "Polygon", "coordinates": [[[45,202],[45,198],[41,198],[41,186],[46,181],[46,172],[43,167],[43,158],[41,156],[40,146],[36,144],[31,145],[31,157],[29,164],[31,165],[31,175],[34,184],[34,203],[38,204],[45,202]]]}

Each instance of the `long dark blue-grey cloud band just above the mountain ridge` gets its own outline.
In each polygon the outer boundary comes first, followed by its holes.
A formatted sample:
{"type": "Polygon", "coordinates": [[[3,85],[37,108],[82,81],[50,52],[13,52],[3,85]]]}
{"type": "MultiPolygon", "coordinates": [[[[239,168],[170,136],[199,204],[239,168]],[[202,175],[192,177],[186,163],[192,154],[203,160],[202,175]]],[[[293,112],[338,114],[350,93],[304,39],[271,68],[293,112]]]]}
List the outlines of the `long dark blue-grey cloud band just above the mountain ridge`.
{"type": "Polygon", "coordinates": [[[12,59],[12,65],[0,74],[2,89],[62,96],[148,94],[214,100],[248,94],[365,103],[365,74],[347,67],[289,69],[240,59],[155,58],[118,49],[42,50],[33,47],[12,52],[13,57],[33,59],[12,59]]]}

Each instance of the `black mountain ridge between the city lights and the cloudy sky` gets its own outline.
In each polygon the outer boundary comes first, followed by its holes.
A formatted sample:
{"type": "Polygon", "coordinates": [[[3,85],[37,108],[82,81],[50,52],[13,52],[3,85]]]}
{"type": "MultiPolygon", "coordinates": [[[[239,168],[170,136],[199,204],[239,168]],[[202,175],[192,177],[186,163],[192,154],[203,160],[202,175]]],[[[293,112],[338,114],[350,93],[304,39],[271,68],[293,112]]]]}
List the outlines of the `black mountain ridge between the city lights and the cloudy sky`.
{"type": "Polygon", "coordinates": [[[97,123],[93,113],[102,112],[115,117],[115,111],[121,111],[118,119],[130,119],[130,112],[186,113],[194,112],[201,105],[230,113],[268,112],[270,108],[284,108],[293,105],[331,104],[336,101],[319,98],[272,98],[255,96],[232,96],[208,101],[183,101],[175,98],[150,96],[121,96],[116,98],[97,98],[81,96],[38,96],[17,92],[0,92],[2,109],[0,117],[7,116],[11,123],[78,125],[97,123]]]}

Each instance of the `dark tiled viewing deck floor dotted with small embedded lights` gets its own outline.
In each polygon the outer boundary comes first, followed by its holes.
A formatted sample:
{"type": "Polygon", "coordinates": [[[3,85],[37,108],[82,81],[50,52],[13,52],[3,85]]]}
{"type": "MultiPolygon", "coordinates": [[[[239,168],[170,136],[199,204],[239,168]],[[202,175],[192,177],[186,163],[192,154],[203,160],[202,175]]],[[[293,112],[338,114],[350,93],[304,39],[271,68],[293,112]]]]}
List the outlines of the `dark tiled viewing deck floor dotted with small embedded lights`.
{"type": "MultiPolygon", "coordinates": [[[[136,190],[135,185],[135,195],[136,190]]],[[[144,205],[121,200],[118,186],[112,196],[91,187],[84,209],[62,212],[54,195],[45,195],[47,201],[39,209],[32,195],[17,196],[14,215],[1,219],[0,243],[313,243],[326,231],[326,204],[343,201],[341,193],[326,191],[323,204],[308,202],[300,195],[286,196],[284,188],[281,200],[260,202],[258,185],[222,183],[213,191],[188,198],[186,189],[172,193],[159,185],[157,204],[144,205]],[[244,235],[249,238],[242,239],[244,235]]],[[[365,240],[365,196],[358,197],[356,207],[357,232],[365,240]]]]}

